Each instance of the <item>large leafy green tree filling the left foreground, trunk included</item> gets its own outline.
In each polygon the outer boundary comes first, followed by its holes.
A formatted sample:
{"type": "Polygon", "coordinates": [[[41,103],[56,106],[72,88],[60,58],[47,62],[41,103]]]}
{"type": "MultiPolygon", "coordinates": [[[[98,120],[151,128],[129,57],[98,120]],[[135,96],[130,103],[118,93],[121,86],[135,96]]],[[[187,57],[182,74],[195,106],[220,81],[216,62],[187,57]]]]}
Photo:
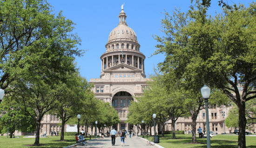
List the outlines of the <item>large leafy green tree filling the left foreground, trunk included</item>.
{"type": "MultiPolygon", "coordinates": [[[[62,101],[67,74],[75,72],[74,56],[80,38],[71,32],[74,23],[61,12],[55,16],[45,0],[1,1],[1,87],[7,89],[36,124],[62,101]]],[[[4,100],[5,101],[5,100],[4,100]]]]}

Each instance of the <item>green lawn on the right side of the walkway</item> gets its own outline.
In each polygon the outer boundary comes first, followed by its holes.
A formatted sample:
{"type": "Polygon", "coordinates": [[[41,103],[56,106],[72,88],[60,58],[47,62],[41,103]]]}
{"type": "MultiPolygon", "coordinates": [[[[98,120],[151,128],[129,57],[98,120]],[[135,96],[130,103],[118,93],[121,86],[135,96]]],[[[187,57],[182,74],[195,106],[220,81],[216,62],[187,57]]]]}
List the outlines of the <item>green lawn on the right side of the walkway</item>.
{"type": "MultiPolygon", "coordinates": [[[[196,137],[197,142],[201,144],[191,144],[192,135],[176,135],[177,139],[171,139],[172,135],[165,135],[165,137],[160,137],[158,143],[164,148],[207,148],[206,138],[196,137]]],[[[147,138],[145,136],[145,138],[147,138]]],[[[150,140],[151,137],[148,137],[150,140]]],[[[237,148],[237,135],[218,135],[213,136],[210,139],[211,148],[237,148]]],[[[246,136],[246,148],[256,148],[256,136],[246,136]]]]}

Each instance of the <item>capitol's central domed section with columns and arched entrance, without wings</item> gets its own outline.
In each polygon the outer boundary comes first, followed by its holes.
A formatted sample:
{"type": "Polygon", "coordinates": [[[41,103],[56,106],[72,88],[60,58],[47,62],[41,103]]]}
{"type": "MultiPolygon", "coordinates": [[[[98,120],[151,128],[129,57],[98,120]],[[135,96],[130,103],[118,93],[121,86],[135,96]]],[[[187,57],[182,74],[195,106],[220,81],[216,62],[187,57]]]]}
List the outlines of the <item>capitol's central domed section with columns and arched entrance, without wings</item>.
{"type": "Polygon", "coordinates": [[[121,10],[119,24],[113,29],[101,55],[100,78],[90,79],[94,83],[95,97],[109,102],[118,111],[121,123],[113,125],[117,130],[132,129],[134,125],[125,123],[128,106],[136,101],[133,96],[141,95],[147,87],[144,60],[140,52],[135,31],[128,27],[126,14],[121,10]]]}

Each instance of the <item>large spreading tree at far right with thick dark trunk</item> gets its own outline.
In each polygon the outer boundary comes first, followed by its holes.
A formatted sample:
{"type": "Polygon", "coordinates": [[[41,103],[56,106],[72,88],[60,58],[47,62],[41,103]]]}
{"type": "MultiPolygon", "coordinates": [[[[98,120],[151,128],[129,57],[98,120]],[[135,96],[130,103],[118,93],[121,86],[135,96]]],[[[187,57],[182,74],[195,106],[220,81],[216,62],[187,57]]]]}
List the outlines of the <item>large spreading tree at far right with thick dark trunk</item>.
{"type": "MultiPolygon", "coordinates": [[[[173,72],[188,87],[198,90],[203,84],[222,90],[239,110],[238,147],[245,148],[245,102],[254,99],[256,91],[256,4],[223,8],[215,17],[207,16],[201,4],[189,12],[175,12],[176,18],[162,20],[166,37],[160,42],[157,53],[165,53],[162,71],[173,72]],[[243,85],[239,93],[238,83],[243,85]],[[255,90],[255,89],[252,89],[255,90]]],[[[174,13],[174,14],[175,14],[174,13]]]]}

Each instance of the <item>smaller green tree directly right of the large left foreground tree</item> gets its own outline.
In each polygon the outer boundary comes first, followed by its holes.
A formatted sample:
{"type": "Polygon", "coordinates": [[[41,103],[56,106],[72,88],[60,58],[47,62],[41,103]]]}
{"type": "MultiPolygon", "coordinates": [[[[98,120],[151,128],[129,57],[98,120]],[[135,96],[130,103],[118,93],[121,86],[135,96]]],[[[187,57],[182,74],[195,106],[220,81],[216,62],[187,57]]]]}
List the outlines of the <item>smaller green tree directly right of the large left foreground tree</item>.
{"type": "MultiPolygon", "coordinates": [[[[85,78],[78,73],[71,74],[65,85],[65,93],[62,93],[63,99],[57,104],[50,114],[55,114],[61,119],[61,127],[64,127],[67,121],[81,113],[83,107],[88,106],[87,102],[94,97],[91,91],[92,85],[88,84],[85,78]]],[[[64,140],[64,128],[61,128],[61,141],[64,140]]]]}

